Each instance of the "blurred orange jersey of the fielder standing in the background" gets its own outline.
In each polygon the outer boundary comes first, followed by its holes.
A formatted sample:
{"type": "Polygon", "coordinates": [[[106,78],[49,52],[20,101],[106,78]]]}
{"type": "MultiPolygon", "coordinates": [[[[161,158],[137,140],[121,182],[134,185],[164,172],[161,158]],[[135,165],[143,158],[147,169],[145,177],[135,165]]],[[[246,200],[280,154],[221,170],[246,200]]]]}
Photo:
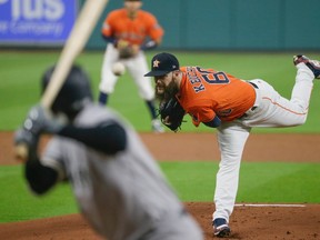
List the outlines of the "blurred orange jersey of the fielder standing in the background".
{"type": "Polygon", "coordinates": [[[137,18],[130,19],[126,9],[110,12],[103,22],[101,32],[106,37],[114,37],[139,46],[146,37],[157,41],[163,36],[163,29],[158,24],[153,14],[138,10],[137,18]]]}

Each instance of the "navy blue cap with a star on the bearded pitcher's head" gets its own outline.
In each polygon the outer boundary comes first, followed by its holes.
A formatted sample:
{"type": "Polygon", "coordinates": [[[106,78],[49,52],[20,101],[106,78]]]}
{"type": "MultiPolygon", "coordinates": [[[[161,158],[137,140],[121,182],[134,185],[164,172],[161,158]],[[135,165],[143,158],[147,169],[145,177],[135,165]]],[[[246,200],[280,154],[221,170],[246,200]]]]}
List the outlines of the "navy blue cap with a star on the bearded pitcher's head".
{"type": "Polygon", "coordinates": [[[167,52],[156,54],[151,60],[151,71],[144,74],[144,77],[164,76],[180,68],[178,59],[167,52]]]}

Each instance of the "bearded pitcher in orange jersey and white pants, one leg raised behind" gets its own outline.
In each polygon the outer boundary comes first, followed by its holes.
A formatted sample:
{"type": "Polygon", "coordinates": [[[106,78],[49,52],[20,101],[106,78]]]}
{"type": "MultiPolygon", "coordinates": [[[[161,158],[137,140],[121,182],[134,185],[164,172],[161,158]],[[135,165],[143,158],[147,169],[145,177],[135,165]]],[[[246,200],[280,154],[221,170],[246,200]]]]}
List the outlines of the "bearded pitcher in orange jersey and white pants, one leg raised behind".
{"type": "Polygon", "coordinates": [[[218,237],[230,234],[240,161],[252,127],[293,127],[307,120],[313,79],[320,79],[320,62],[294,56],[293,63],[298,72],[291,99],[286,99],[262,79],[246,81],[214,69],[180,68],[178,59],[166,52],[151,61],[152,71],[146,76],[154,77],[162,122],[177,131],[184,116],[182,108],[196,127],[203,123],[218,130],[221,161],[212,221],[218,237]]]}

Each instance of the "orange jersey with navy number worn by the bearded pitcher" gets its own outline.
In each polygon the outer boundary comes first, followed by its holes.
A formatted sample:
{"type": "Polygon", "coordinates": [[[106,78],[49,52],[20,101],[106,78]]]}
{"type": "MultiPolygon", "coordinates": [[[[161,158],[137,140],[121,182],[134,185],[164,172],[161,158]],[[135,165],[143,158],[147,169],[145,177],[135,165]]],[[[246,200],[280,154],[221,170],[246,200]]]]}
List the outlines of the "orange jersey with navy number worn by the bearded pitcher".
{"type": "Polygon", "coordinates": [[[233,76],[213,69],[182,67],[179,101],[191,114],[194,126],[211,121],[232,121],[253,107],[253,87],[233,76]]]}

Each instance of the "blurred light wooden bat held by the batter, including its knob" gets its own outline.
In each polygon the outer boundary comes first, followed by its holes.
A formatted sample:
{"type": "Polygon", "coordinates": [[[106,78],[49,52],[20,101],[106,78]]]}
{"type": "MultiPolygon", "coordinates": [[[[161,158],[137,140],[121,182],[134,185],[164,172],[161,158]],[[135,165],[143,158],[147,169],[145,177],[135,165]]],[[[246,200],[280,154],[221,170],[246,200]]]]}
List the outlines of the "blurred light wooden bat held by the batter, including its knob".
{"type": "MultiPolygon", "coordinates": [[[[41,98],[41,106],[44,109],[50,109],[53,103],[77,56],[83,50],[107,3],[108,0],[87,0],[84,2],[41,98]]],[[[24,160],[28,157],[26,144],[16,146],[14,152],[17,159],[24,160]]]]}

